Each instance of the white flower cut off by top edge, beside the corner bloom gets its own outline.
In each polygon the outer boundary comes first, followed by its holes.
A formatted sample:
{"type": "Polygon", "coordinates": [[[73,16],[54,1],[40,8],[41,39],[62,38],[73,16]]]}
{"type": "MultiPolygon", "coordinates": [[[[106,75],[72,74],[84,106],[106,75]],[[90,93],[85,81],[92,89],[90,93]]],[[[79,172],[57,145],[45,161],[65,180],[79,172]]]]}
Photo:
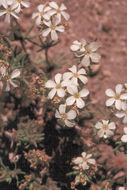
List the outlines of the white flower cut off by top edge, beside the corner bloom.
{"type": "Polygon", "coordinates": [[[21,11],[21,6],[28,8],[30,6],[29,2],[22,1],[22,0],[15,0],[14,1],[16,12],[19,13],[21,11]]]}

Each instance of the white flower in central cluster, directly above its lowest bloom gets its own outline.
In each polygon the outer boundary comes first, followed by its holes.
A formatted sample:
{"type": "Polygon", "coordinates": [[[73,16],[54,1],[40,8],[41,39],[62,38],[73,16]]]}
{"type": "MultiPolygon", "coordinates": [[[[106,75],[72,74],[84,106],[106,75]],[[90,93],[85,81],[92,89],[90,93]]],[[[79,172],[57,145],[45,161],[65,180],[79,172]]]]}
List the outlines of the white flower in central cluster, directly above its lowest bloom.
{"type": "Polygon", "coordinates": [[[82,98],[88,96],[89,91],[87,89],[83,89],[78,92],[77,87],[68,88],[68,92],[72,95],[66,99],[66,104],[68,106],[73,105],[75,102],[78,108],[83,108],[85,106],[85,102],[82,100],[82,98]]]}

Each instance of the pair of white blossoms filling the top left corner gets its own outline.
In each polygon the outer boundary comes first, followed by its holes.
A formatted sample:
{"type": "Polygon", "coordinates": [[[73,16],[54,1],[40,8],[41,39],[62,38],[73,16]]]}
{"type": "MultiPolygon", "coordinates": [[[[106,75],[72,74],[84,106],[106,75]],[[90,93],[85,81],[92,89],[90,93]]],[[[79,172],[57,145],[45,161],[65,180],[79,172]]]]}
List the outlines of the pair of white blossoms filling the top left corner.
{"type": "Polygon", "coordinates": [[[10,23],[10,17],[19,19],[22,7],[28,8],[30,3],[24,0],[0,0],[0,6],[0,16],[5,15],[5,22],[10,23]]]}

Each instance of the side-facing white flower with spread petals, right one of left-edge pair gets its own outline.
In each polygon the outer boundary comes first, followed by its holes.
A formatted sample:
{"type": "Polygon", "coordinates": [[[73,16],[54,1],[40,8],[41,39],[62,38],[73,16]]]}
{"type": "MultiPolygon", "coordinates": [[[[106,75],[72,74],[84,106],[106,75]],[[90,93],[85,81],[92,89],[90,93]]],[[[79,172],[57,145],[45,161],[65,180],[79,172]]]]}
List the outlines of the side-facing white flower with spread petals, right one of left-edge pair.
{"type": "Polygon", "coordinates": [[[15,83],[15,81],[13,79],[17,78],[20,76],[20,70],[19,69],[15,69],[11,75],[9,76],[8,74],[5,76],[5,80],[6,80],[6,88],[5,91],[10,91],[10,85],[12,85],[13,87],[18,87],[18,85],[15,83]]]}

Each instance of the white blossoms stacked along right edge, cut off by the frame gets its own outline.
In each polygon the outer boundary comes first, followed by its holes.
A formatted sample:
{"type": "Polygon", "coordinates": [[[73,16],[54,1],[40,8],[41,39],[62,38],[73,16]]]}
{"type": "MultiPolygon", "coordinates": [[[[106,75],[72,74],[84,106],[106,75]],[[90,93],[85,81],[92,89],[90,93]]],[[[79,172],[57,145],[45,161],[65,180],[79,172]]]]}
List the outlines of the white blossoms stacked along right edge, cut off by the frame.
{"type": "MultiPolygon", "coordinates": [[[[127,88],[126,84],[117,84],[115,91],[112,89],[106,90],[106,95],[110,98],[106,101],[106,106],[113,108],[115,116],[122,118],[124,124],[127,123],[127,88]]],[[[124,128],[125,134],[127,133],[126,127],[124,128]]],[[[127,135],[123,135],[121,140],[127,142],[127,135]]]]}

